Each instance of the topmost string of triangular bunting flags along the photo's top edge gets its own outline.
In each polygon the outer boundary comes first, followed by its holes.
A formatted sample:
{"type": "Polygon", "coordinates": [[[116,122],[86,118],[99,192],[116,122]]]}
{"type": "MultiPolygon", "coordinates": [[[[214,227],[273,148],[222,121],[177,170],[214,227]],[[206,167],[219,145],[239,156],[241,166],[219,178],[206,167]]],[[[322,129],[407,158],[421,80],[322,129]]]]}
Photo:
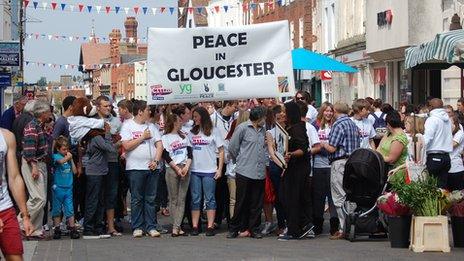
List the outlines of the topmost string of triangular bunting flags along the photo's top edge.
{"type": "MultiPolygon", "coordinates": [[[[215,5],[215,6],[195,6],[195,7],[177,7],[177,6],[112,6],[112,5],[85,5],[85,4],[67,4],[58,2],[38,2],[24,0],[24,7],[29,9],[42,9],[51,11],[76,12],[76,13],[97,13],[97,14],[126,14],[126,15],[149,15],[149,14],[170,14],[176,11],[184,13],[185,10],[190,14],[219,14],[227,13],[230,9],[241,8],[243,11],[256,10],[259,8],[273,9],[276,5],[282,6],[284,0],[268,0],[262,3],[239,3],[237,5],[215,5]]],[[[177,13],[176,13],[177,14],[177,13]]]]}

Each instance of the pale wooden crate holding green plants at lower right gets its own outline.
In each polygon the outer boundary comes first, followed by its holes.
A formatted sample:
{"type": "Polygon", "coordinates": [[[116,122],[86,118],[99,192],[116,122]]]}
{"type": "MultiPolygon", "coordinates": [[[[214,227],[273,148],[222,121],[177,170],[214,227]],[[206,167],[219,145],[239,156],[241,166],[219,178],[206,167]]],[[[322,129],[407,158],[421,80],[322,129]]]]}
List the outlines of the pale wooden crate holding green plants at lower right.
{"type": "Polygon", "coordinates": [[[411,222],[411,245],[409,248],[414,252],[450,252],[448,218],[446,216],[413,216],[411,222]]]}

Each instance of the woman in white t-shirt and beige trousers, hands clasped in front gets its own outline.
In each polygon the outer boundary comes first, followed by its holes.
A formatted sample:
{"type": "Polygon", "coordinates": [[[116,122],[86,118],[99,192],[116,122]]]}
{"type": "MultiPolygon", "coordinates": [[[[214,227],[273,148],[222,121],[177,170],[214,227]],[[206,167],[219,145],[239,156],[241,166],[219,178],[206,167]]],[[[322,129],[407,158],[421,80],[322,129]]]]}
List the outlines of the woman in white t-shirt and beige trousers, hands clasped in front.
{"type": "Polygon", "coordinates": [[[169,209],[173,219],[172,236],[184,235],[181,230],[184,217],[185,197],[190,182],[189,168],[192,163],[192,146],[181,132],[182,119],[176,114],[168,114],[164,126],[163,159],[166,161],[166,185],[169,195],[169,209]]]}

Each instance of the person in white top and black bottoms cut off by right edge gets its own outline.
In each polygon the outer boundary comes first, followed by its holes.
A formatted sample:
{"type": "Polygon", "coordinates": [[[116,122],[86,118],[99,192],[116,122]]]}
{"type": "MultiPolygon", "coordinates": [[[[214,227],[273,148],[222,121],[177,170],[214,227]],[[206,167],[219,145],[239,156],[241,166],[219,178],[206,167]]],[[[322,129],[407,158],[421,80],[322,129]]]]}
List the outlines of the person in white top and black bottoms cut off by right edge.
{"type": "Polygon", "coordinates": [[[448,171],[448,190],[464,189],[464,165],[462,162],[462,150],[464,149],[464,132],[459,127],[456,115],[452,118],[453,151],[450,153],[451,168],[448,171]]]}

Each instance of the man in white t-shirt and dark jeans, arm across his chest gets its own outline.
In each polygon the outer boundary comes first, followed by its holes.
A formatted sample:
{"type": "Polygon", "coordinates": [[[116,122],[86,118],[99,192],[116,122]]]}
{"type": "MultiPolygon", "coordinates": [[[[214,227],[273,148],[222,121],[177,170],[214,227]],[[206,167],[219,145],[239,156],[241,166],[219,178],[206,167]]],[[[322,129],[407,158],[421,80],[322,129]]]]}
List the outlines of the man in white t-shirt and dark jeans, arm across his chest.
{"type": "Polygon", "coordinates": [[[131,189],[131,226],[134,237],[146,232],[159,237],[155,197],[159,179],[158,164],[162,156],[161,135],[149,123],[150,109],[146,101],[133,103],[134,119],[121,128],[122,146],[126,151],[126,173],[131,189]]]}

